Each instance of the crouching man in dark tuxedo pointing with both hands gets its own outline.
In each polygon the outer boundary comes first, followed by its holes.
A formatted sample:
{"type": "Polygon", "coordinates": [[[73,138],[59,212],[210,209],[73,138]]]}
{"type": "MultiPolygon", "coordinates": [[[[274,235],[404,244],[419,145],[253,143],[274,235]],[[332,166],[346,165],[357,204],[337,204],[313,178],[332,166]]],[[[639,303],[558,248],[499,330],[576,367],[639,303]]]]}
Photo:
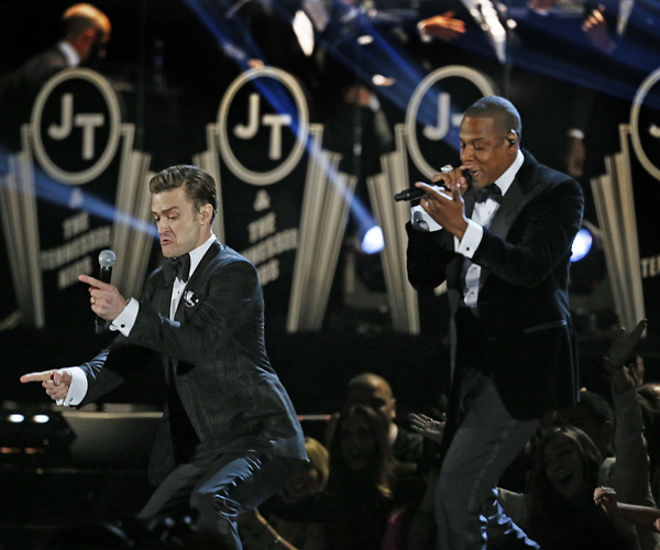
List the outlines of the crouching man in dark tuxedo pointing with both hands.
{"type": "Polygon", "coordinates": [[[150,464],[158,487],[140,517],[190,514],[198,538],[240,549],[237,516],[306,461],[302,432],[266,354],[256,270],[211,232],[213,178],[173,166],[150,189],[168,260],[146,280],[143,298],[125,300],[114,286],[79,277],[90,285],[92,311],[121,334],[79,367],[21,381],[41,381],[57,403],[80,407],[134,374],[127,367],[132,352],[160,353],[168,396],[150,464]]]}

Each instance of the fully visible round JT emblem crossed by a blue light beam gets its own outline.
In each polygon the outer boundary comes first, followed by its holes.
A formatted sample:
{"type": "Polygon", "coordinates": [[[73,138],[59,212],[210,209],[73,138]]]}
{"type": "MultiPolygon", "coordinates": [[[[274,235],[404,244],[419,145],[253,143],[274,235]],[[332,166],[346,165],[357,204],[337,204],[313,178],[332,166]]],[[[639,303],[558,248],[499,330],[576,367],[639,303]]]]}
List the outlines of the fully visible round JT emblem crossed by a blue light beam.
{"type": "Polygon", "coordinates": [[[220,153],[229,169],[248,184],[275,184],[305,153],[309,134],[305,94],[282,69],[248,70],[222,98],[218,125],[220,153]]]}

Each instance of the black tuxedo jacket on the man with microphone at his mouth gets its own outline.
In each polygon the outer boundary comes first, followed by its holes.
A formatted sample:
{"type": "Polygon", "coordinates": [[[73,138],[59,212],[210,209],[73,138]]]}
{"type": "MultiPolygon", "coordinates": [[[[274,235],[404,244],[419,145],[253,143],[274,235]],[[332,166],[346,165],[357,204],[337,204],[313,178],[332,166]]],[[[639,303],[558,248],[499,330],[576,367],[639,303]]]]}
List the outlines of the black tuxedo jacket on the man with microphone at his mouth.
{"type": "MultiPolygon", "coordinates": [[[[474,207],[473,195],[469,189],[464,196],[468,217],[474,207]]],[[[525,153],[522,166],[472,257],[482,267],[479,340],[460,330],[461,318],[465,318],[460,306],[464,257],[453,252],[453,235],[424,233],[407,226],[410,283],[435,287],[447,280],[454,373],[460,377],[465,367],[476,367],[492,376],[504,406],[518,420],[539,418],[578,398],[578,353],[568,285],[571,244],[583,208],[576,182],[525,153]],[[457,349],[468,348],[482,350],[476,356],[485,362],[461,365],[457,349]]]]}

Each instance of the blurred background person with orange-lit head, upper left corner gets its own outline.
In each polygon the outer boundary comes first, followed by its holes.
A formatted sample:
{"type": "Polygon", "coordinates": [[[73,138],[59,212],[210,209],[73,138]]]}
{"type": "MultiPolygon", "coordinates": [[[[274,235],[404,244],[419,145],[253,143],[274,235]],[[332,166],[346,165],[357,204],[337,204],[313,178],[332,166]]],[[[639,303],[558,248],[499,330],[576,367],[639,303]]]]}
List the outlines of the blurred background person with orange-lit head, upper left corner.
{"type": "Polygon", "coordinates": [[[110,41],[108,15],[89,3],[77,3],[62,15],[62,40],[29,59],[0,81],[0,144],[21,148],[21,124],[30,121],[32,106],[44,84],[56,73],[95,65],[110,41]]]}

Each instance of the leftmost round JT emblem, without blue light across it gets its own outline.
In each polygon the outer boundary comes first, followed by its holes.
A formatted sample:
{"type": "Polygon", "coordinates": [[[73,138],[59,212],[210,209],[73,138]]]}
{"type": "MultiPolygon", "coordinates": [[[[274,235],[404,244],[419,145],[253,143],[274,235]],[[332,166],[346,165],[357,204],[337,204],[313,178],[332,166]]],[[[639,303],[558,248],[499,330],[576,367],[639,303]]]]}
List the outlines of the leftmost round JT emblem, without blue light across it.
{"type": "Polygon", "coordinates": [[[108,80],[85,68],[63,70],[34,102],[34,153],[57,182],[87,184],[114,157],[120,125],[119,101],[108,80]]]}

